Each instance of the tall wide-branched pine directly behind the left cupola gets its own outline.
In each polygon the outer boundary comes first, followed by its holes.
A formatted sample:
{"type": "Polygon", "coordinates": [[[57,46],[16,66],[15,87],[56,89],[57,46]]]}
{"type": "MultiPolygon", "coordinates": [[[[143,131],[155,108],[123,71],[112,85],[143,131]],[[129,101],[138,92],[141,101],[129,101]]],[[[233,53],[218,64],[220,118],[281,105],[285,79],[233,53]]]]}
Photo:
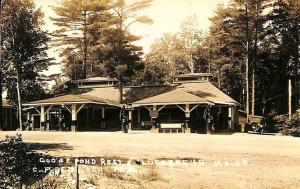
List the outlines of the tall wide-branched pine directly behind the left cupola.
{"type": "Polygon", "coordinates": [[[67,72],[68,68],[76,68],[71,71],[76,72],[72,79],[92,75],[93,70],[88,70],[88,64],[93,66],[92,47],[103,36],[103,30],[112,25],[108,3],[108,0],[64,0],[53,7],[57,17],[51,19],[59,27],[53,32],[54,45],[62,47],[67,72]]]}

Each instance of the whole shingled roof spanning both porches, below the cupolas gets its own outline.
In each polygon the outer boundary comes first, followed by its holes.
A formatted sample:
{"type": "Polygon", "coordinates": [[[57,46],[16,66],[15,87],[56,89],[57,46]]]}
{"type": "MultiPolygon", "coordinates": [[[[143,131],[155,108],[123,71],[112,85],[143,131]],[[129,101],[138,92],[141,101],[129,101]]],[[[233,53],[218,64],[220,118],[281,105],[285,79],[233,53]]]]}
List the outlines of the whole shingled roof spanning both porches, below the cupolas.
{"type": "MultiPolygon", "coordinates": [[[[164,86],[134,86],[123,88],[123,99],[133,106],[158,104],[221,104],[240,105],[207,80],[164,86]]],[[[119,89],[115,86],[76,89],[69,95],[25,103],[24,105],[109,104],[121,106],[119,89]]]]}

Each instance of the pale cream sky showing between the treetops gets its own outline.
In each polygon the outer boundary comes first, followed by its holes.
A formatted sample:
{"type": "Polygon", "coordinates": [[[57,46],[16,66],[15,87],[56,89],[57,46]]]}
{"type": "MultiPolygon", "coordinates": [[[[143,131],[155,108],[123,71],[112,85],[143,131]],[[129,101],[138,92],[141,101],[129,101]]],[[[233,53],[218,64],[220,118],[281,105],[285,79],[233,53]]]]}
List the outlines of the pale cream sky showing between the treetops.
{"type": "MultiPolygon", "coordinates": [[[[53,25],[49,17],[55,17],[51,6],[58,4],[59,0],[34,0],[37,7],[41,7],[44,12],[45,25],[43,28],[48,31],[53,31],[56,26],[53,25]]],[[[135,0],[126,0],[131,3],[135,0]]],[[[196,15],[199,19],[200,28],[209,29],[209,17],[213,16],[218,4],[226,4],[229,0],[154,0],[152,5],[141,11],[143,15],[148,16],[153,20],[153,24],[133,24],[130,31],[142,39],[137,43],[142,46],[144,52],[150,50],[150,46],[155,39],[163,36],[164,33],[176,33],[180,29],[180,24],[188,16],[196,15]]],[[[56,58],[59,63],[61,59],[58,57],[58,52],[55,49],[50,49],[49,56],[56,58]]],[[[52,66],[45,74],[59,73],[61,66],[52,66]]]]}

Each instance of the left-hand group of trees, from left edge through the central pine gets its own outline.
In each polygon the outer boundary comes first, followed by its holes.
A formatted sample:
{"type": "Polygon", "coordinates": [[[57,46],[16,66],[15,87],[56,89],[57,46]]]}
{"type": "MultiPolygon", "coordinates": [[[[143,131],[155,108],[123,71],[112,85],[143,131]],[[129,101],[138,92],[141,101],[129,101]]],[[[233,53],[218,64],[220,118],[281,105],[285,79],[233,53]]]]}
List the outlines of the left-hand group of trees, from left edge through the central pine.
{"type": "MultiPolygon", "coordinates": [[[[41,29],[43,14],[33,0],[1,0],[0,94],[6,91],[8,100],[17,107],[19,124],[22,102],[51,95],[44,85],[57,75],[42,74],[54,63],[47,57],[48,45],[59,47],[62,76],[71,80],[114,77],[122,94],[123,85],[131,84],[144,68],[143,49],[133,44],[140,37],[129,29],[135,23],[152,23],[140,14],[151,2],[63,0],[52,7],[56,17],[51,20],[58,29],[50,33],[41,29]]],[[[0,114],[2,119],[2,101],[0,114]]]]}

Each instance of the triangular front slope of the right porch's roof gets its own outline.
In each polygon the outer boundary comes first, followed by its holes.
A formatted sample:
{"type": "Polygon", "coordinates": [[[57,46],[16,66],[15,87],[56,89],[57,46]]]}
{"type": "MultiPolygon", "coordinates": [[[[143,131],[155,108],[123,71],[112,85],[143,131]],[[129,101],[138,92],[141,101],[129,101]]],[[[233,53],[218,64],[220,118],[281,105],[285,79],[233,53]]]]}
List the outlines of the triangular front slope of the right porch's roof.
{"type": "Polygon", "coordinates": [[[134,106],[171,105],[171,104],[213,104],[213,103],[201,97],[198,97],[196,95],[181,90],[177,90],[177,89],[133,103],[134,106]]]}

